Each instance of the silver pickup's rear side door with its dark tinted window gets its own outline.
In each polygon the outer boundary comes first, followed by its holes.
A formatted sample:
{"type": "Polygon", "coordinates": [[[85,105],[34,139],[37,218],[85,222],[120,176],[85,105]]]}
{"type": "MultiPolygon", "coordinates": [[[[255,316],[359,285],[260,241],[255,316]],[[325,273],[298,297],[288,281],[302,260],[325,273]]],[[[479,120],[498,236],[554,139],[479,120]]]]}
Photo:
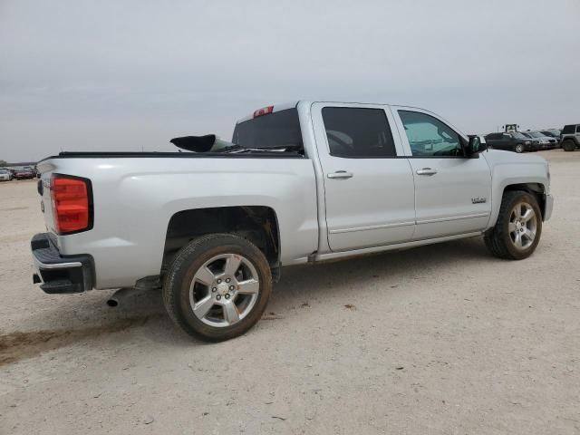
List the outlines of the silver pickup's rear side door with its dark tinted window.
{"type": "MultiPolygon", "coordinates": [[[[409,241],[415,226],[411,167],[392,134],[386,106],[314,103],[324,174],[328,244],[333,251],[409,241]]],[[[396,130],[395,130],[396,131],[396,130]]]]}

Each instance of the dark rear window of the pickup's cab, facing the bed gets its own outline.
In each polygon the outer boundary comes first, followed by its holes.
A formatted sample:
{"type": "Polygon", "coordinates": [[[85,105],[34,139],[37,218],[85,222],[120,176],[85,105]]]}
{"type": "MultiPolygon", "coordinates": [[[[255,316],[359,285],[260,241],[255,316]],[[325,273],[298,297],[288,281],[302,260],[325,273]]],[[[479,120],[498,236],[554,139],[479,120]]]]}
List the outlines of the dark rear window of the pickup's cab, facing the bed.
{"type": "Polygon", "coordinates": [[[232,142],[244,148],[302,147],[298,111],[286,109],[237,124],[232,142]]]}

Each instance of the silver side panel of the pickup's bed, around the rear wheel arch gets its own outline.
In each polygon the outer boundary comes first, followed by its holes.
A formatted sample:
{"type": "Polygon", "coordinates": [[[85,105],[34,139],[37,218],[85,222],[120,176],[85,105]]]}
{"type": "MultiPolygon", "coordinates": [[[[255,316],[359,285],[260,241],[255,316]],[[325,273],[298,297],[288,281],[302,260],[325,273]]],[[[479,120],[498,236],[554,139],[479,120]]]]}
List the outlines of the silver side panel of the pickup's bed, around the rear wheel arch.
{"type": "MultiPolygon", "coordinates": [[[[160,275],[171,218],[190,209],[259,206],[275,212],[280,261],[305,262],[317,249],[316,187],[304,158],[52,158],[39,164],[43,182],[53,173],[92,180],[94,228],[56,237],[67,255],[89,252],[98,289],[135,285],[160,275]],[[49,163],[50,162],[50,163],[49,163]],[[144,254],[146,253],[146,254],[144,254]]],[[[181,154],[181,155],[180,155],[181,154]]],[[[157,157],[157,156],[156,156],[157,157]]],[[[50,192],[43,202],[50,214],[50,192]]],[[[50,225],[52,219],[46,219],[50,225]]],[[[49,228],[53,229],[53,228],[49,228]]]]}

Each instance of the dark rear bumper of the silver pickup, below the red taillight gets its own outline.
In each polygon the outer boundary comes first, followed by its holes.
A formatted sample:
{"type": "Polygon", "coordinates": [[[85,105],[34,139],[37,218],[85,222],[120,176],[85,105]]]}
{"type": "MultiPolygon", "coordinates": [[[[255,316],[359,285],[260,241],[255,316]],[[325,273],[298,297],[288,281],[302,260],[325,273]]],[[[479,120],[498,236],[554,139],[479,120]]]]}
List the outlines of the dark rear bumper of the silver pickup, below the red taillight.
{"type": "Polygon", "coordinates": [[[35,235],[30,246],[34,262],[33,282],[40,284],[45,293],[82,293],[92,289],[92,256],[61,256],[48,233],[35,235]]]}

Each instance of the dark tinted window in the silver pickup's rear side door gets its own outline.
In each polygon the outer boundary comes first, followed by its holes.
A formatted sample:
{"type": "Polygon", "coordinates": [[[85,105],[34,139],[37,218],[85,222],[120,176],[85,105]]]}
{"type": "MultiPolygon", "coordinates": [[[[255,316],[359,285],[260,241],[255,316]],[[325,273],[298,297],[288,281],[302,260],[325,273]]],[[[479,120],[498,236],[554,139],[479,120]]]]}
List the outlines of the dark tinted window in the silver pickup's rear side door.
{"type": "Polygon", "coordinates": [[[324,107],[322,114],[331,155],[352,159],[396,156],[382,109],[324,107]]]}

